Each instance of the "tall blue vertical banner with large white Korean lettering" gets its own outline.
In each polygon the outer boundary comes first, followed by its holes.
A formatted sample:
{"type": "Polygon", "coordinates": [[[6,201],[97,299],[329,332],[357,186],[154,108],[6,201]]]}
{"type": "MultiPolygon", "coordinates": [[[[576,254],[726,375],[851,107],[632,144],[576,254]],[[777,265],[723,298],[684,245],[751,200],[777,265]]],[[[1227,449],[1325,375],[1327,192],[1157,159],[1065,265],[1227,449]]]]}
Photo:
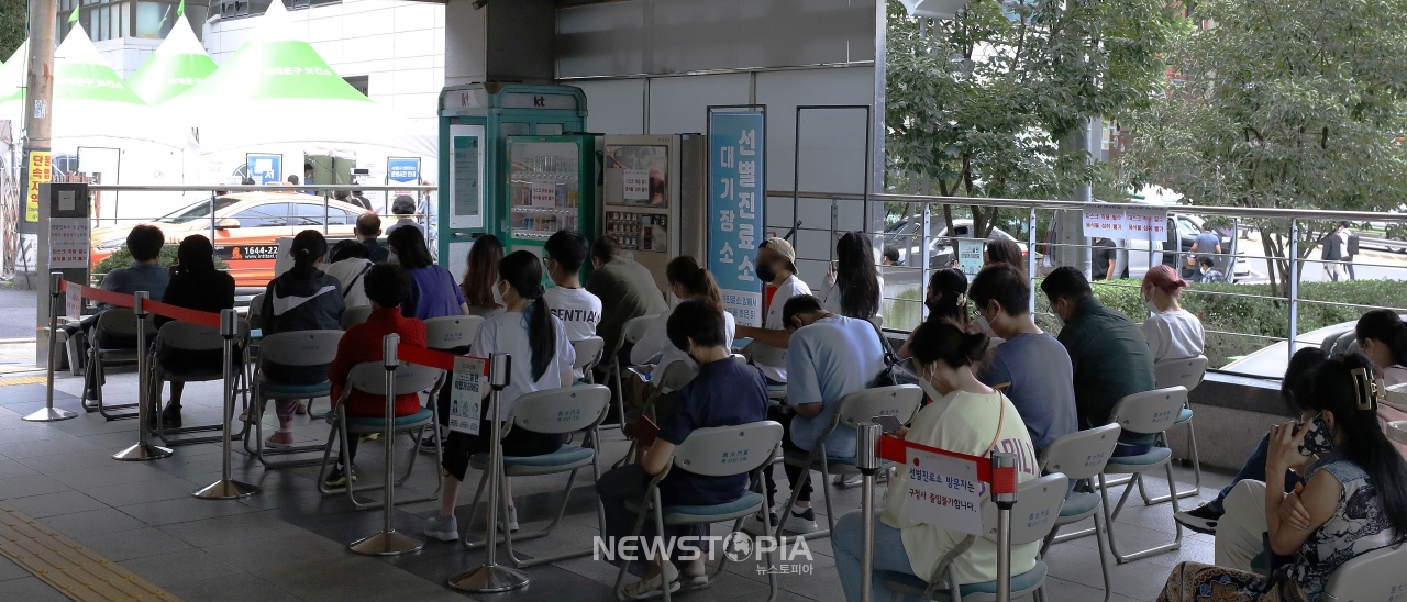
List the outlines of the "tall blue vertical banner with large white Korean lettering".
{"type": "Polygon", "coordinates": [[[743,326],[763,325],[763,281],[753,260],[767,198],[763,111],[709,113],[708,269],[723,293],[723,309],[743,326]]]}

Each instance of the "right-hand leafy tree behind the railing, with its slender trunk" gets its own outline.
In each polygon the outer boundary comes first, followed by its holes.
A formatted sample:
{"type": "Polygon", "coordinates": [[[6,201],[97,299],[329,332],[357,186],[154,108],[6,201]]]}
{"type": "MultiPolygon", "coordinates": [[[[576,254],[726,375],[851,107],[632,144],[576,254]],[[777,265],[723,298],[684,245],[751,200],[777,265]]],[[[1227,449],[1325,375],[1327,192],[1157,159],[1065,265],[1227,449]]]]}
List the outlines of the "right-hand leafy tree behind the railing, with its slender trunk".
{"type": "MultiPolygon", "coordinates": [[[[1393,210],[1407,153],[1407,1],[1210,0],[1176,39],[1168,93],[1126,124],[1123,167],[1195,204],[1393,210]]],[[[1271,284],[1328,224],[1261,219],[1271,284]]]]}

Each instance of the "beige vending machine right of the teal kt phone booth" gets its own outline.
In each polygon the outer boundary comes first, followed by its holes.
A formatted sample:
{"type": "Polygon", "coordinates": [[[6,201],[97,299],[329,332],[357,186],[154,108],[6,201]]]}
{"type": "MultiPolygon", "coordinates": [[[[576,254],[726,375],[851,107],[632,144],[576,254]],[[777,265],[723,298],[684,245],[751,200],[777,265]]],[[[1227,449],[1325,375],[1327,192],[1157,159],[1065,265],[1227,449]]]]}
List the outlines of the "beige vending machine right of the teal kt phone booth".
{"type": "Polygon", "coordinates": [[[705,141],[699,134],[605,136],[601,233],[649,267],[664,293],[671,259],[705,262],[705,141]]]}

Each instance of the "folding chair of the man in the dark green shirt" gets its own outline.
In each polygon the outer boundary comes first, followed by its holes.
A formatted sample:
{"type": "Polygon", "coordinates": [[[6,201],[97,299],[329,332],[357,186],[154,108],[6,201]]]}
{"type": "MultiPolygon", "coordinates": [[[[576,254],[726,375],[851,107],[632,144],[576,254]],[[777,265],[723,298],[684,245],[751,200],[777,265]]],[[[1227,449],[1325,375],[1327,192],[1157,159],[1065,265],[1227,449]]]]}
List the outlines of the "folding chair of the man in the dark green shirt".
{"type": "MultiPolygon", "coordinates": [[[[1123,511],[1124,502],[1128,501],[1128,494],[1134,491],[1134,482],[1124,485],[1124,494],[1119,498],[1119,505],[1114,508],[1113,513],[1110,513],[1110,485],[1106,482],[1104,475],[1133,474],[1133,480],[1138,481],[1141,487],[1144,473],[1162,467],[1168,474],[1168,491],[1176,491],[1178,482],[1172,478],[1172,450],[1166,447],[1166,430],[1175,423],[1178,414],[1182,412],[1186,404],[1188,390],[1182,387],[1169,387],[1135,392],[1124,397],[1123,399],[1119,399],[1119,404],[1114,405],[1114,411],[1110,414],[1110,422],[1123,428],[1123,432],[1157,436],[1154,439],[1154,447],[1148,453],[1140,456],[1110,457],[1109,463],[1104,464],[1104,470],[1099,474],[1099,495],[1100,505],[1104,512],[1104,529],[1109,530],[1109,551],[1114,556],[1114,560],[1119,561],[1119,564],[1131,563],[1138,558],[1145,558],[1182,547],[1182,525],[1173,522],[1176,536],[1171,543],[1154,546],[1131,554],[1120,554],[1119,537],[1114,534],[1114,519],[1119,518],[1119,512],[1123,511]]],[[[1172,512],[1179,512],[1176,495],[1172,497],[1172,512]]]]}

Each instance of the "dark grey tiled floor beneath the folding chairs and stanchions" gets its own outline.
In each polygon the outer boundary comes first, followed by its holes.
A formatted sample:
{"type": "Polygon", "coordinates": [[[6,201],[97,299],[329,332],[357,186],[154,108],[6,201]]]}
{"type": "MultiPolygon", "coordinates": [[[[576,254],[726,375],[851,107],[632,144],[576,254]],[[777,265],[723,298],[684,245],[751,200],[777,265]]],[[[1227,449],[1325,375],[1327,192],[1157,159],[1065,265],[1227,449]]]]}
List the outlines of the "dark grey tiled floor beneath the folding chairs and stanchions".
{"type": "MultiPolygon", "coordinates": [[[[55,394],[56,405],[80,411],[75,394],[79,381],[63,378],[55,394]]],[[[135,377],[117,374],[104,390],[110,401],[135,398],[135,377]]],[[[571,601],[612,601],[615,568],[591,557],[529,568],[528,588],[498,595],[466,595],[445,587],[449,575],[483,563],[483,551],[466,551],[454,544],[429,542],[425,550],[393,558],[352,554],[346,544],[380,529],[380,511],[355,511],[342,497],[321,497],[315,487],[318,468],[263,470],[236,443],[234,477],[260,487],[260,492],[239,501],[203,501],[190,495],[221,474],[219,444],[179,446],[174,456],[149,463],[120,463],[111,454],[136,440],[134,421],[104,422],[96,414],[56,423],[28,423],[20,416],[42,406],[42,385],[0,387],[0,499],[94,551],[121,563],[138,575],[186,601],[536,601],[564,596],[571,601]]],[[[193,384],[186,394],[186,423],[218,418],[218,385],[193,384]]],[[[319,399],[317,406],[326,408],[319,399]]],[[[272,415],[272,411],[269,412],[272,415]]],[[[272,418],[272,416],[270,416],[272,418]]],[[[272,423],[272,422],[270,422],[272,423]]],[[[326,426],[300,416],[300,437],[322,440],[326,426]]],[[[398,442],[407,447],[408,440],[398,442]]],[[[619,435],[606,436],[608,461],[625,454],[619,435]]],[[[380,482],[383,447],[363,446],[357,457],[362,484],[380,482]]],[[[404,463],[407,456],[398,454],[404,463]]],[[[415,474],[398,497],[428,494],[435,488],[433,460],[422,456],[415,474]]],[[[404,464],[401,464],[404,466],[404,464]]],[[[460,523],[467,519],[478,473],[460,497],[460,523]]],[[[1179,478],[1190,473],[1179,470],[1179,478]]],[[[785,480],[781,480],[785,482],[785,480]]],[[[1220,487],[1225,477],[1207,474],[1204,485],[1220,487]]],[[[557,554],[590,549],[597,533],[590,475],[574,488],[568,515],[550,537],[525,542],[518,551],[557,554]]],[[[566,477],[519,478],[514,482],[525,532],[545,526],[560,501],[566,477]]],[[[1164,482],[1152,482],[1165,491],[1164,482]]],[[[855,488],[836,489],[836,508],[858,508],[855,488]]],[[[1203,499],[1214,491],[1203,488],[1203,499]]],[[[370,498],[370,492],[367,497],[370,498]]],[[[377,494],[378,495],[378,494],[377,494]]],[[[1137,498],[1134,498],[1137,499],[1137,498]]],[[[1185,505],[1197,504],[1183,499],[1185,505]]],[[[393,520],[398,530],[419,536],[424,519],[435,512],[433,502],[401,505],[393,520]]],[[[481,520],[481,519],[480,519],[481,520]]],[[[1172,537],[1166,504],[1144,508],[1131,505],[1117,523],[1126,550],[1172,537]]],[[[715,533],[726,529],[718,526],[715,533]]],[[[837,601],[836,575],[829,540],[816,540],[813,574],[779,575],[782,601],[837,601]]],[[[502,558],[502,550],[499,558],[502,558]]],[[[1185,533],[1180,550],[1112,567],[1116,601],[1151,601],[1169,568],[1182,560],[1211,560],[1211,539],[1185,533]]],[[[1051,565],[1048,599],[1097,601],[1103,598],[1099,557],[1090,537],[1055,546],[1047,557],[1051,565]]],[[[753,601],[767,592],[764,575],[754,567],[732,564],[709,589],[680,595],[687,601],[753,601]]],[[[8,560],[0,558],[0,599],[65,599],[55,589],[8,560]]]]}

